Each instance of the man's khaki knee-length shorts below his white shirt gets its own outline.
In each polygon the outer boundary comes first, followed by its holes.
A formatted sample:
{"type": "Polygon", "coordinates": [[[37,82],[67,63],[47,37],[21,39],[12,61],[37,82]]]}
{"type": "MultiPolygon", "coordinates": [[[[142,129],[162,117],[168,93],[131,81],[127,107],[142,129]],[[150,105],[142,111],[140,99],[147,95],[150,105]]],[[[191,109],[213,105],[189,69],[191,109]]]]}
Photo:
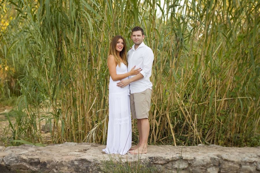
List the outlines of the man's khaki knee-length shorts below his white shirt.
{"type": "Polygon", "coordinates": [[[130,94],[130,108],[133,119],[148,118],[151,106],[151,89],[130,94]]]}

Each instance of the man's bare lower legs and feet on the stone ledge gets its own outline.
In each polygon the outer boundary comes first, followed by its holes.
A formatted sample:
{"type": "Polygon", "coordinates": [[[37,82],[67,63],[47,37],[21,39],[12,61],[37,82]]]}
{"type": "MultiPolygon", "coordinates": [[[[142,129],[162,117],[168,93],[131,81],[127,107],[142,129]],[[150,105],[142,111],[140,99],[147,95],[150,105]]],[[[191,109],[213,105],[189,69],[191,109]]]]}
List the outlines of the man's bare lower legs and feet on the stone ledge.
{"type": "Polygon", "coordinates": [[[149,136],[149,131],[150,131],[149,121],[147,118],[138,119],[138,120],[141,123],[141,130],[138,129],[139,144],[138,144],[138,148],[135,148],[135,150],[129,151],[131,154],[147,153],[147,141],[148,141],[148,136],[149,136]],[[141,136],[141,138],[140,138],[140,136],[141,136]]]}

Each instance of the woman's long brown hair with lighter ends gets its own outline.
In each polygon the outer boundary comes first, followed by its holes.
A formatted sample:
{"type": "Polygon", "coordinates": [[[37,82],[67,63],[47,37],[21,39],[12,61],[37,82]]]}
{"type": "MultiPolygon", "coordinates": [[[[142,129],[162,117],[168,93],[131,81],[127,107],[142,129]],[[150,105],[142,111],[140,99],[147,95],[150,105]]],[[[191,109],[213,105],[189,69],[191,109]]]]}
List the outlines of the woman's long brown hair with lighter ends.
{"type": "Polygon", "coordinates": [[[126,43],[125,43],[124,37],[122,37],[121,35],[114,36],[112,38],[112,40],[111,40],[111,43],[110,43],[110,46],[109,46],[109,51],[108,51],[108,56],[109,55],[113,55],[115,57],[116,65],[118,65],[119,67],[121,65],[121,61],[120,61],[120,57],[118,57],[117,54],[116,54],[116,44],[117,44],[117,41],[120,38],[124,41],[124,47],[123,47],[122,51],[119,53],[119,55],[122,58],[123,63],[125,65],[128,65],[128,63],[127,63],[127,56],[126,56],[127,47],[126,47],[126,43]]]}

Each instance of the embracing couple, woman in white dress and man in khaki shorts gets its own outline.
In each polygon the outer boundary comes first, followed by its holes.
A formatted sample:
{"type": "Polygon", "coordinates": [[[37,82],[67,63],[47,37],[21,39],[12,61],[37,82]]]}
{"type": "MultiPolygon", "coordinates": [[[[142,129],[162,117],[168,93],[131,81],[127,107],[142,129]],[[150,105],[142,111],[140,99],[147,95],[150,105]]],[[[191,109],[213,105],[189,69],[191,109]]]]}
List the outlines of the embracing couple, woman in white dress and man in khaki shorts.
{"type": "Polygon", "coordinates": [[[107,65],[109,81],[109,121],[105,153],[131,154],[147,153],[150,125],[148,114],[151,104],[153,51],[146,46],[144,30],[132,29],[132,48],[126,53],[125,39],[113,37],[107,65]],[[139,143],[131,147],[132,118],[137,119],[139,143]]]}

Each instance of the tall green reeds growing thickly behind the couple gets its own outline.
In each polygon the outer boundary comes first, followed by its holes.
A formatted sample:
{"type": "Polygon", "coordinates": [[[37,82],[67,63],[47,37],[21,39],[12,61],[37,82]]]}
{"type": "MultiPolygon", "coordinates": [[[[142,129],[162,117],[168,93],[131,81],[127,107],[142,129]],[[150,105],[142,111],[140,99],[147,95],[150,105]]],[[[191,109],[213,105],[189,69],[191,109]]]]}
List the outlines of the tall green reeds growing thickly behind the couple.
{"type": "MultiPolygon", "coordinates": [[[[3,83],[15,79],[25,112],[12,139],[42,142],[44,121],[54,124],[52,142],[106,144],[109,42],[120,34],[129,48],[140,26],[155,55],[148,144],[260,145],[259,1],[0,4],[12,16],[1,18],[9,23],[0,33],[3,83]]],[[[2,97],[7,90],[1,86],[2,97]]]]}

